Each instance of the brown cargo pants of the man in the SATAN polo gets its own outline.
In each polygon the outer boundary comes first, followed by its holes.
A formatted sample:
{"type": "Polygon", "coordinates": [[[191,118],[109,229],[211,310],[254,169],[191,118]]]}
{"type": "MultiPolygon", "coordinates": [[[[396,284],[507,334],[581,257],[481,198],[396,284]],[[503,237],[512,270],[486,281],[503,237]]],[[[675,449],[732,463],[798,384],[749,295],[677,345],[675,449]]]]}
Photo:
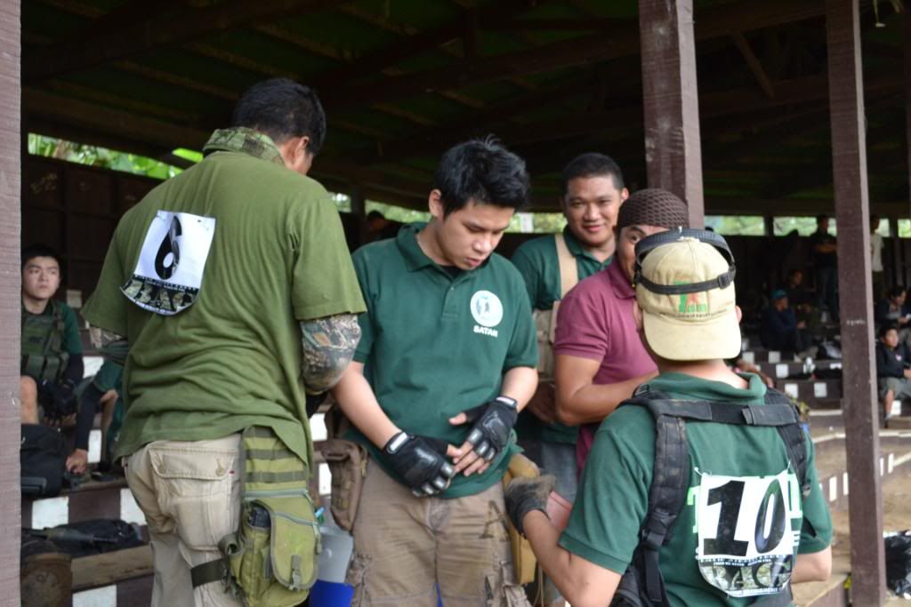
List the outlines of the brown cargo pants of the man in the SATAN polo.
{"type": "Polygon", "coordinates": [[[527,606],[514,583],[503,487],[417,498],[373,460],[354,519],[353,607],[527,606]]]}

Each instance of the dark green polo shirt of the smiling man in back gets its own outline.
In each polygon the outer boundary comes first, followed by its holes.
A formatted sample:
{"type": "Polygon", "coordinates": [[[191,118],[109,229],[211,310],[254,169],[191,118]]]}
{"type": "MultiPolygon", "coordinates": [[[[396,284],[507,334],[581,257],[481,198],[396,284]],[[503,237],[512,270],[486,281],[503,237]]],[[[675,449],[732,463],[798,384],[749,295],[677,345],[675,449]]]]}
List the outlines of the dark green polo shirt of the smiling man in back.
{"type": "MultiPolygon", "coordinates": [[[[607,268],[612,258],[601,262],[573,236],[569,228],[563,228],[567,248],[576,258],[578,279],[584,280],[592,274],[607,268]]],[[[518,268],[528,299],[533,309],[547,310],[554,307],[560,298],[560,264],[557,258],[557,241],[553,235],[528,240],[513,253],[512,262],[518,268]]],[[[566,426],[559,422],[548,425],[531,412],[519,416],[516,432],[521,440],[546,440],[548,442],[575,443],[578,426],[566,426]]]]}

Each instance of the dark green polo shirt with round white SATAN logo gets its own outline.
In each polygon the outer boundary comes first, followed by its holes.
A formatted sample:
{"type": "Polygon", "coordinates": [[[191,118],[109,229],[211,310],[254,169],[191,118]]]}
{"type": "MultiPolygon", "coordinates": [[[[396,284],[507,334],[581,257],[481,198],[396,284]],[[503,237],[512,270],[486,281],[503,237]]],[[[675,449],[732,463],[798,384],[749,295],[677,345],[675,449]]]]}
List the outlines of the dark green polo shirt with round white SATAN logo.
{"type": "MultiPolygon", "coordinates": [[[[425,224],[402,228],[394,239],[353,255],[367,313],[354,359],[394,424],[412,434],[460,446],[470,424],[449,418],[500,393],[503,374],[537,365],[537,339],[525,285],[506,258],[493,254],[455,278],[417,244],[425,224]]],[[[357,430],[350,438],[371,450],[384,470],[382,451],[357,430]]],[[[458,475],[443,494],[457,498],[499,481],[518,450],[515,437],[483,474],[458,475]]]]}

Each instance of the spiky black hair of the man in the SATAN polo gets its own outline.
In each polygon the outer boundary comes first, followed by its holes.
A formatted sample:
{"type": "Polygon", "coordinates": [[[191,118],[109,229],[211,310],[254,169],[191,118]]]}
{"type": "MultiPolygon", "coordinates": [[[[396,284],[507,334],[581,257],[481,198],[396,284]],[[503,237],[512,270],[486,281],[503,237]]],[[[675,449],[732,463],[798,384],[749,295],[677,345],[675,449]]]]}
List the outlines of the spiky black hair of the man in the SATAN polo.
{"type": "Polygon", "coordinates": [[[525,160],[495,137],[485,137],[447,149],[434,188],[440,190],[445,218],[470,201],[518,210],[526,205],[530,186],[525,160]]]}

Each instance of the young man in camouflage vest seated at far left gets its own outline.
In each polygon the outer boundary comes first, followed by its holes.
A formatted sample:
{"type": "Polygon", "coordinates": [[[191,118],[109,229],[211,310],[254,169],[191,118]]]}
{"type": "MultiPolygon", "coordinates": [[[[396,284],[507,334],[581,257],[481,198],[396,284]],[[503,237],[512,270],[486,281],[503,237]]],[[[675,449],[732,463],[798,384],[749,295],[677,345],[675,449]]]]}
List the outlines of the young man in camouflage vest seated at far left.
{"type": "MultiPolygon", "coordinates": [[[[22,250],[22,359],[19,395],[22,422],[59,427],[76,417],[76,388],[82,380],[82,342],[76,314],[54,298],[60,288],[60,257],[35,244],[22,250]]],[[[77,432],[67,470],[82,473],[88,465],[87,428],[77,432]]],[[[85,426],[85,423],[82,424],[85,426]]]]}

